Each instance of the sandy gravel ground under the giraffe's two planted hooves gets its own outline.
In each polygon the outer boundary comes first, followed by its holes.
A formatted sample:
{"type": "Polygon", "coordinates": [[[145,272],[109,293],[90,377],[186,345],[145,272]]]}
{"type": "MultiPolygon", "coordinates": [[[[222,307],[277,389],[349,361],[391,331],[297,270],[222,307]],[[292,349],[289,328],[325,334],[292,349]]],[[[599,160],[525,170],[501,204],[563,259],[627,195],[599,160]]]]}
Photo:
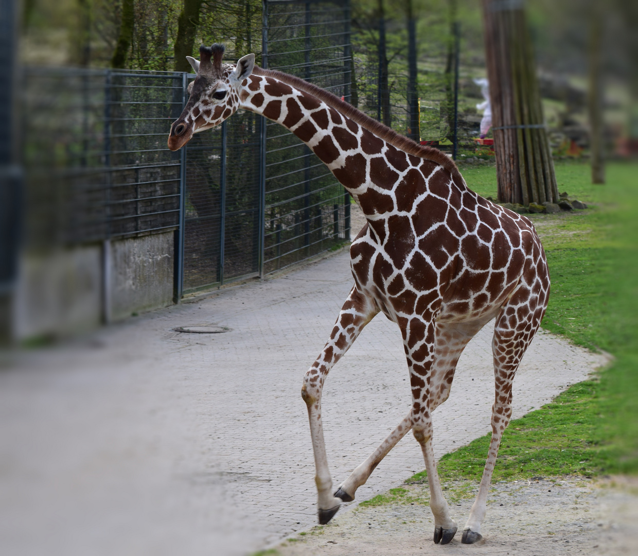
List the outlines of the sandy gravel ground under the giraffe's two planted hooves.
{"type": "MultiPolygon", "coordinates": [[[[638,494],[635,486],[574,478],[497,483],[493,486],[480,545],[463,545],[461,529],[473,499],[448,495],[459,532],[448,546],[432,542],[434,522],[425,485],[408,486],[407,502],[355,507],[329,525],[288,539],[283,556],[383,554],[405,556],[635,555],[638,494]],[[410,502],[410,500],[417,500],[410,502]]],[[[454,490],[454,489],[452,489],[454,490]]]]}

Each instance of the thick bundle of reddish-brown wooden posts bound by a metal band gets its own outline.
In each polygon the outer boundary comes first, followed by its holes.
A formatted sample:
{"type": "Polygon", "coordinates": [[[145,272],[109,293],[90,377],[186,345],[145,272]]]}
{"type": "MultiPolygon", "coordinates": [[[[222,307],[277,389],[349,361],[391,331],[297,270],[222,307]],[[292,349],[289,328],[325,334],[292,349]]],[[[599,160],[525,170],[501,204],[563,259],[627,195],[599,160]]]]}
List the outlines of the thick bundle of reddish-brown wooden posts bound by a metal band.
{"type": "Polygon", "coordinates": [[[558,201],[523,0],[483,0],[498,199],[558,201]]]}

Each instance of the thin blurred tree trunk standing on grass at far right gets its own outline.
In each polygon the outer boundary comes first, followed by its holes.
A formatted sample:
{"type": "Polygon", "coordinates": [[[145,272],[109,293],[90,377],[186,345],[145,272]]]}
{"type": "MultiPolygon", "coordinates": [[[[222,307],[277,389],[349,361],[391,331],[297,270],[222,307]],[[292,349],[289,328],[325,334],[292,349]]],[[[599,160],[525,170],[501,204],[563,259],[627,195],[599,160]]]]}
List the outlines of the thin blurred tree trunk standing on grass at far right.
{"type": "Polygon", "coordinates": [[[602,121],[602,75],[600,72],[600,42],[602,15],[591,11],[590,84],[588,109],[590,116],[591,183],[605,183],[604,139],[602,121]]]}

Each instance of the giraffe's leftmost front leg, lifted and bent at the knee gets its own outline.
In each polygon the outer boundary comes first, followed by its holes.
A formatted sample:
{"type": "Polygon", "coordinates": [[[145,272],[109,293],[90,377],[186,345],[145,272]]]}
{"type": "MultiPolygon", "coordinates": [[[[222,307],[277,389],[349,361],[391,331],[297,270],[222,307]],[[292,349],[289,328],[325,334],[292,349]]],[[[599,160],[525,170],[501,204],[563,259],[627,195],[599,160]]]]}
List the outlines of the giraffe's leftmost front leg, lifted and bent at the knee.
{"type": "Polygon", "coordinates": [[[341,498],[332,494],[332,477],[330,477],[328,458],[325,453],[321,412],[323,382],[332,366],[348,351],[360,331],[377,312],[375,304],[361,294],[356,285],[353,286],[339,312],[330,340],[326,342],[315,363],[309,368],[301,388],[301,396],[308,407],[310,435],[315,454],[318,518],[322,525],[332,519],[342,501],[341,498]]]}

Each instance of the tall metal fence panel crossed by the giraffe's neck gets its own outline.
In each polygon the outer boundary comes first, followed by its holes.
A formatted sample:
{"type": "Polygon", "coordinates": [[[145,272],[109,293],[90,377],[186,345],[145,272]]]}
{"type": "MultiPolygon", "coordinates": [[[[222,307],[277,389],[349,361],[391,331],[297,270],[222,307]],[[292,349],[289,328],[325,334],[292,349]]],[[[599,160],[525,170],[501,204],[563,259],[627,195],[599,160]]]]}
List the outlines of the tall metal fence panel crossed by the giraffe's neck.
{"type": "MultiPolygon", "coordinates": [[[[263,66],[350,101],[350,3],[263,2],[263,66]]],[[[295,135],[265,128],[264,272],[308,259],[350,238],[350,198],[295,135]]]]}

